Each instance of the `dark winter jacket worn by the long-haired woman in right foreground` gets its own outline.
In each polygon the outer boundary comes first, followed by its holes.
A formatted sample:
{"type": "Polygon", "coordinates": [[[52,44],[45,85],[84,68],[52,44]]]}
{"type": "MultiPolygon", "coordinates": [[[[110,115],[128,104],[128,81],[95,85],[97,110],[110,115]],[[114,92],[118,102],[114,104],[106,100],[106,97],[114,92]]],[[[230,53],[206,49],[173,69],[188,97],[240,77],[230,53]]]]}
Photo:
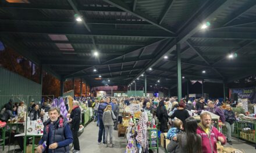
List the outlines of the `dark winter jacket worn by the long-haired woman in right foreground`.
{"type": "MultiPolygon", "coordinates": [[[[186,133],[183,133],[180,135],[181,140],[177,140],[177,141],[173,141],[170,140],[170,143],[167,145],[167,152],[171,152],[171,153],[185,153],[188,152],[187,151],[187,136],[186,133]],[[182,142],[182,145],[180,145],[179,141],[182,142]]],[[[179,138],[179,137],[178,137],[179,138]]],[[[189,142],[189,143],[193,143],[193,142],[189,142]]],[[[193,152],[197,152],[197,150],[195,150],[196,148],[193,148],[193,152]]]]}

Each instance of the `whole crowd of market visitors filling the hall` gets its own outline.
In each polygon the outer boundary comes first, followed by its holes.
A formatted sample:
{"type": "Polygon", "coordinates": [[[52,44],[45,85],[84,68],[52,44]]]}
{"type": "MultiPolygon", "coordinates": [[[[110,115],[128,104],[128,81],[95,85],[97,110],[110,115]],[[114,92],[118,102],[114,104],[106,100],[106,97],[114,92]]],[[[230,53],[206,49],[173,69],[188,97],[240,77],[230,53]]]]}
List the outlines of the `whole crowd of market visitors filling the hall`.
{"type": "MultiPolygon", "coordinates": [[[[243,105],[238,103],[232,108],[229,103],[221,103],[219,100],[208,100],[202,97],[190,100],[180,100],[175,97],[148,98],[148,97],[126,97],[93,99],[84,101],[88,107],[94,109],[94,121],[99,127],[98,144],[105,147],[113,147],[112,133],[118,130],[118,123],[122,123],[123,112],[130,104],[140,104],[141,108],[150,111],[156,118],[156,125],[162,133],[168,132],[170,139],[168,152],[216,152],[216,142],[232,144],[231,133],[234,130],[234,121],[237,114],[244,114],[243,105]],[[200,115],[200,123],[197,123],[188,111],[194,110],[194,114],[200,115]],[[226,137],[212,126],[211,115],[207,110],[218,116],[222,126],[227,129],[226,137]]],[[[10,117],[26,112],[27,106],[21,101],[19,104],[9,103],[4,105],[1,112],[1,121],[8,121],[10,117]]],[[[48,112],[49,119],[44,122],[44,133],[37,147],[38,152],[69,152],[69,144],[73,143],[73,152],[80,152],[78,130],[81,120],[79,102],[73,101],[73,109],[67,118],[61,115],[59,108],[50,107],[49,103],[41,105],[30,103],[29,117],[31,121],[42,119],[48,112]],[[53,139],[54,138],[54,139],[53,139]],[[46,145],[45,145],[46,144],[46,145]]]]}

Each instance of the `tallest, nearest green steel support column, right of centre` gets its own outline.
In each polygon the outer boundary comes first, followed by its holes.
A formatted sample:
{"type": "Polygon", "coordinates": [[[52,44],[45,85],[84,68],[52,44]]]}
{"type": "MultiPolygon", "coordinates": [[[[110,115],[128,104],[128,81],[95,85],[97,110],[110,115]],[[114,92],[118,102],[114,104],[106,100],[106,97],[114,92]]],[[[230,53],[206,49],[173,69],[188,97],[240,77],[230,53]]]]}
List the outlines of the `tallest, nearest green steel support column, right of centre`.
{"type": "Polygon", "coordinates": [[[182,60],[180,54],[180,43],[176,44],[177,51],[177,98],[182,99],[182,60]]]}

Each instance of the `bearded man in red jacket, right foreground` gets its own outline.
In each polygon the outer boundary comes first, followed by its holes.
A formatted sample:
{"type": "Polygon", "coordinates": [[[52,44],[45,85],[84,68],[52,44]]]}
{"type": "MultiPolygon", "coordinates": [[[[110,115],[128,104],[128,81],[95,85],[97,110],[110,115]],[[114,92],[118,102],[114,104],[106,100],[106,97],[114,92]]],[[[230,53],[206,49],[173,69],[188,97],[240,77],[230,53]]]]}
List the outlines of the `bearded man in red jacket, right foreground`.
{"type": "Polygon", "coordinates": [[[226,137],[211,125],[212,118],[208,112],[202,112],[200,120],[197,134],[202,139],[202,153],[217,153],[217,141],[220,141],[223,145],[226,143],[226,137]]]}

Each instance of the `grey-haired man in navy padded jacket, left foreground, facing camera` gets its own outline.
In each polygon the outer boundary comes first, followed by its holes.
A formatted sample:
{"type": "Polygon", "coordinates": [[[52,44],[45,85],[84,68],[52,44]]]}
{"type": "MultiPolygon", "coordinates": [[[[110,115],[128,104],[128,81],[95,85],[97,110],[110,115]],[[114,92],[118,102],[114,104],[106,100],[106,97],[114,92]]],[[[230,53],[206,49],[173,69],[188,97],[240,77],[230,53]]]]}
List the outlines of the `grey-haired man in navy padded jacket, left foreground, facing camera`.
{"type": "Polygon", "coordinates": [[[44,134],[39,141],[38,152],[69,153],[69,144],[73,142],[72,132],[60,112],[57,107],[49,110],[49,119],[44,122],[44,134]],[[42,146],[44,142],[47,145],[45,148],[42,146]]]}

